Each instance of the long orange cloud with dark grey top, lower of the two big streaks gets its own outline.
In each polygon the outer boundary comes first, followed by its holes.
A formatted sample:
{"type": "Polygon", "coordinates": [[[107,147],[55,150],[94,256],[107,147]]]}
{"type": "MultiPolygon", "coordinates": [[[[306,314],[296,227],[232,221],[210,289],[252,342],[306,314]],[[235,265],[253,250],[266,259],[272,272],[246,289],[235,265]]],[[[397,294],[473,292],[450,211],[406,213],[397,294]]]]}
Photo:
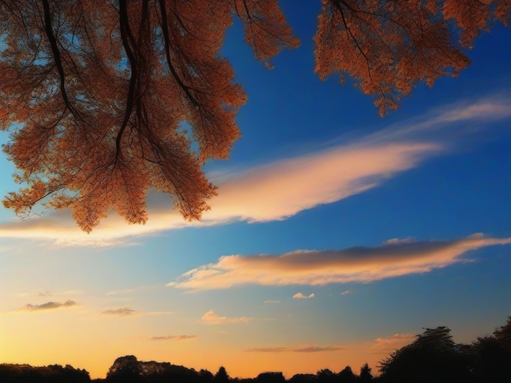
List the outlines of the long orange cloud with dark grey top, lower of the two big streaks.
{"type": "Polygon", "coordinates": [[[509,243],[511,238],[486,238],[474,234],[452,241],[387,242],[377,247],[296,250],[282,255],[227,255],[220,257],[216,264],[184,273],[167,286],[198,291],[245,284],[370,282],[467,262],[470,259],[461,256],[471,250],[509,243]]]}

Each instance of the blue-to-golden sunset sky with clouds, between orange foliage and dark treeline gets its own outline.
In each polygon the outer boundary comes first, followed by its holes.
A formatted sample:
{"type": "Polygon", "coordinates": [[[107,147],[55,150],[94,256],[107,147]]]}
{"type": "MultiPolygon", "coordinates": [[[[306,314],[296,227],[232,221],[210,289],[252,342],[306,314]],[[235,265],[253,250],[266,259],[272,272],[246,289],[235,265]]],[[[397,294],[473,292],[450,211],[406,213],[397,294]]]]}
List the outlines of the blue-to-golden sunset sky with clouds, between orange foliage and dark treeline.
{"type": "MultiPolygon", "coordinates": [[[[290,377],[376,369],[423,327],[461,343],[506,322],[511,29],[483,33],[458,78],[381,118],[313,73],[320,2],[280,3],[301,46],[273,70],[238,23],[227,33],[248,103],[229,160],[206,164],[219,195],[201,222],[155,193],[146,225],[111,212],[90,234],[67,211],[0,210],[0,363],[104,377],[134,354],[290,377]]],[[[0,195],[13,172],[1,154],[0,195]]]]}

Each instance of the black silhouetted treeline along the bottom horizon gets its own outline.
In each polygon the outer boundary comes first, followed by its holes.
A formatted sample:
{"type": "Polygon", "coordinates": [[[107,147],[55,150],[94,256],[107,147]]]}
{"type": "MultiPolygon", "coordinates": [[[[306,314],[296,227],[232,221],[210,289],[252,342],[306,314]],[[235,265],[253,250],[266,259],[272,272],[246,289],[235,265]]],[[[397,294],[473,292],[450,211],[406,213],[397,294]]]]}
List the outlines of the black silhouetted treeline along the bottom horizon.
{"type": "Polygon", "coordinates": [[[255,378],[232,378],[222,366],[211,371],[118,357],[106,378],[90,379],[86,370],[66,365],[34,367],[0,364],[0,383],[508,383],[511,381],[511,317],[491,336],[470,344],[453,341],[448,327],[425,328],[410,344],[391,352],[378,365],[379,376],[364,364],[355,373],[350,366],[339,372],[322,369],[315,374],[263,372],[255,378]]]}

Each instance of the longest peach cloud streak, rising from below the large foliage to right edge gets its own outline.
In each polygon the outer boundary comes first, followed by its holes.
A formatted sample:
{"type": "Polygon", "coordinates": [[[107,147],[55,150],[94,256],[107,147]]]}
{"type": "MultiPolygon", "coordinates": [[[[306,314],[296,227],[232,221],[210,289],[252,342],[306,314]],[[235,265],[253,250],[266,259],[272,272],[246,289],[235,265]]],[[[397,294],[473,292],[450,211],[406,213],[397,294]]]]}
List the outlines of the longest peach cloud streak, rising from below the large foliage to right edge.
{"type": "Polygon", "coordinates": [[[118,246],[127,243],[120,240],[126,236],[190,225],[284,220],[305,209],[362,193],[428,158],[447,153],[450,141],[461,142],[469,130],[477,130],[466,129],[469,122],[485,127],[507,118],[511,116],[510,105],[507,95],[451,105],[327,150],[224,173],[221,179],[213,179],[219,184],[219,194],[210,201],[212,209],[204,213],[201,222],[183,221],[169,198],[153,194],[148,198],[150,219],[146,225],[127,225],[112,214],[85,234],[68,211],[58,211],[32,220],[1,223],[0,237],[118,246]]]}

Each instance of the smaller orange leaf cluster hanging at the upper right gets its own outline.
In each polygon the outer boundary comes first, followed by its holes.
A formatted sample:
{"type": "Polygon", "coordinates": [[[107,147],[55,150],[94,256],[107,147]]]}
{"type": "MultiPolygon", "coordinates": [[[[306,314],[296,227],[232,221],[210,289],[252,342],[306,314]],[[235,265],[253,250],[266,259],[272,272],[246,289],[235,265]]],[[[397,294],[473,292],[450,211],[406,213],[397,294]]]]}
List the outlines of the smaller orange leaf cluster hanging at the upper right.
{"type": "Polygon", "coordinates": [[[322,0],[315,71],[340,72],[375,95],[380,115],[417,82],[433,85],[470,64],[463,54],[481,30],[511,20],[509,0],[322,0]],[[457,41],[456,38],[459,40],[457,41]]]}

